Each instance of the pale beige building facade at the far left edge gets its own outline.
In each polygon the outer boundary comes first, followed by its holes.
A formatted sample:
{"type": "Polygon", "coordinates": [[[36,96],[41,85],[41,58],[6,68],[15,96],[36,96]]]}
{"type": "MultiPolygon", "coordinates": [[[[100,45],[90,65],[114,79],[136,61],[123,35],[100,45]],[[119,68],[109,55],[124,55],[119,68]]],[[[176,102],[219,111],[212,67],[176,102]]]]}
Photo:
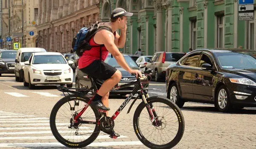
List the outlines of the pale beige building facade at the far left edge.
{"type": "Polygon", "coordinates": [[[36,28],[32,24],[38,10],[38,0],[2,0],[2,39],[3,48],[13,49],[14,38],[18,37],[21,47],[36,46],[36,28]],[[29,32],[35,32],[33,36],[29,32]],[[18,33],[18,34],[17,34],[18,33]],[[10,46],[6,38],[11,37],[10,46]]]}

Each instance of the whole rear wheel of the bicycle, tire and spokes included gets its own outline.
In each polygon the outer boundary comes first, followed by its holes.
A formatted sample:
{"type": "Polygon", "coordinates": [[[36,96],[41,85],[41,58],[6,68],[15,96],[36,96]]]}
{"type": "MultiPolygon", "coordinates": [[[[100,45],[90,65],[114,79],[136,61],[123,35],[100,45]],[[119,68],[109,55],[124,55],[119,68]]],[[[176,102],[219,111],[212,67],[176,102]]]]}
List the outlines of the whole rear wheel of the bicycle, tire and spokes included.
{"type": "Polygon", "coordinates": [[[50,115],[50,127],[54,137],[64,146],[84,147],[92,143],[100,132],[98,122],[99,112],[88,106],[79,120],[94,122],[94,124],[73,123],[73,118],[88,103],[89,98],[69,95],[59,100],[52,108],[50,115]],[[73,123],[73,125],[72,125],[73,123]],[[70,126],[72,127],[70,128],[70,126]]]}

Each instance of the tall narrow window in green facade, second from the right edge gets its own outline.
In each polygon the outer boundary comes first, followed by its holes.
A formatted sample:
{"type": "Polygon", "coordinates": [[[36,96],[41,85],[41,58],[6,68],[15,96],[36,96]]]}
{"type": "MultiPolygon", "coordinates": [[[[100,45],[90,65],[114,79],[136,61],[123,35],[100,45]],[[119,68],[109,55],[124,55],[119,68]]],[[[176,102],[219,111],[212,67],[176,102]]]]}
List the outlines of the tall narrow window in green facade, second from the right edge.
{"type": "Polygon", "coordinates": [[[224,16],[218,16],[217,17],[217,25],[218,25],[218,32],[217,32],[217,47],[218,48],[223,48],[223,22],[224,22],[224,16]]]}

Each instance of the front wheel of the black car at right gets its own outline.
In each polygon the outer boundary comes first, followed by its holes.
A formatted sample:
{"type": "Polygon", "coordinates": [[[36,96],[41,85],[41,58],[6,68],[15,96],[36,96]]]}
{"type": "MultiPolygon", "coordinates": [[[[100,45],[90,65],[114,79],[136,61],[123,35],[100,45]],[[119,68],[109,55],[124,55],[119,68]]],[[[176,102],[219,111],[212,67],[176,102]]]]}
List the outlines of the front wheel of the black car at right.
{"type": "Polygon", "coordinates": [[[215,106],[221,112],[230,112],[232,110],[230,96],[227,88],[224,85],[220,86],[217,91],[215,97],[215,106]]]}

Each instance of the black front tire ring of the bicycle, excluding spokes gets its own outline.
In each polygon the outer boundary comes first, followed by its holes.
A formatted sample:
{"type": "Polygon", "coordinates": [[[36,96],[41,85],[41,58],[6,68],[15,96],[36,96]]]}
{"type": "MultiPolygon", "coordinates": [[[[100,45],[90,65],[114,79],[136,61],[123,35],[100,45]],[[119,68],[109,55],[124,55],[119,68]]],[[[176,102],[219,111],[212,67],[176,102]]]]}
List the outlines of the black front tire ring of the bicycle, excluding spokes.
{"type": "MultiPolygon", "coordinates": [[[[134,112],[134,119],[133,119],[133,124],[134,124],[134,132],[137,135],[137,138],[148,148],[151,149],[170,149],[174,146],[177,145],[177,143],[180,142],[183,133],[184,133],[184,129],[185,129],[185,120],[184,117],[182,115],[182,112],[180,111],[179,107],[173,103],[171,100],[169,100],[166,97],[161,97],[161,96],[153,96],[153,97],[149,97],[147,99],[148,103],[165,103],[166,105],[168,105],[169,107],[172,108],[172,110],[174,110],[175,115],[177,116],[178,119],[178,131],[177,134],[175,135],[175,138],[173,140],[171,140],[169,143],[165,143],[163,145],[157,145],[154,143],[151,143],[150,141],[148,141],[142,134],[141,130],[140,130],[140,125],[139,125],[139,117],[141,112],[143,111],[144,107],[145,107],[145,103],[142,102],[139,104],[139,106],[137,107],[137,109],[134,112]]],[[[149,115],[148,115],[149,116],[149,115]]],[[[158,140],[158,138],[157,138],[158,140]]]]}

